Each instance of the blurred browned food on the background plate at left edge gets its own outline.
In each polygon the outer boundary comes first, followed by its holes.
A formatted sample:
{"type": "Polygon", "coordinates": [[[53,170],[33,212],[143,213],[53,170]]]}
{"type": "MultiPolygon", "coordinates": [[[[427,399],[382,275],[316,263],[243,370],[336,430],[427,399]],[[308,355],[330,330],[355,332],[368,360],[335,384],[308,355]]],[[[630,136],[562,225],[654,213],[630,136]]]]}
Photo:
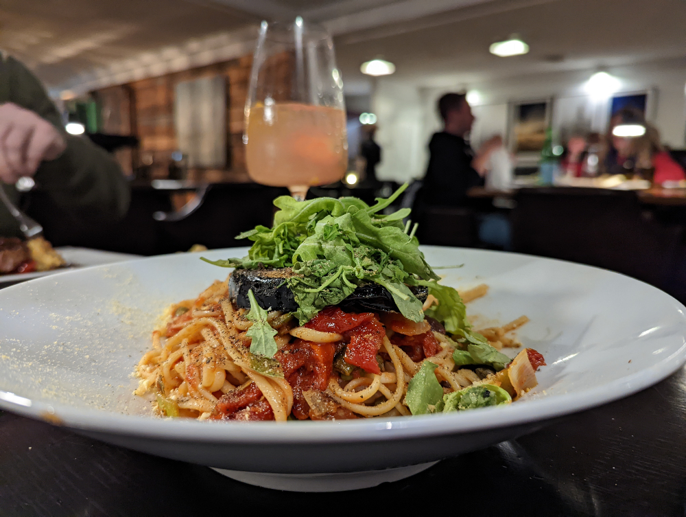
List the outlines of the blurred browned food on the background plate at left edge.
{"type": "Polygon", "coordinates": [[[0,275],[51,271],[66,264],[43,237],[27,241],[0,237],[0,275]]]}

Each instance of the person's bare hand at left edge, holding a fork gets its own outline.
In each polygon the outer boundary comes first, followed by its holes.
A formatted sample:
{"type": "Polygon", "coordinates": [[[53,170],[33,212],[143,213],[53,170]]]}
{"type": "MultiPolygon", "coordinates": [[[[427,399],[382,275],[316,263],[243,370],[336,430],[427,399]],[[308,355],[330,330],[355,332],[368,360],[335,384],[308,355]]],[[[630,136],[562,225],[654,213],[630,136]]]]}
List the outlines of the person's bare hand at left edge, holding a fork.
{"type": "Polygon", "coordinates": [[[0,181],[33,176],[41,161],[56,159],[65,148],[67,141],[47,120],[12,102],[0,104],[0,181]]]}

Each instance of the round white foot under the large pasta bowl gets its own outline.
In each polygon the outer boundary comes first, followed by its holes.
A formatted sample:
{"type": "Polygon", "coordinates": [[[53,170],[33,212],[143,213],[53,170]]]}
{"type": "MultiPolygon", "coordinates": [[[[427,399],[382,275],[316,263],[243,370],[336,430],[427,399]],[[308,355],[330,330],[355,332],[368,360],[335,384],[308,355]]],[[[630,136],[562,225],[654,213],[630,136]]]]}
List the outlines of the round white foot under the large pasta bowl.
{"type": "Polygon", "coordinates": [[[381,483],[399,481],[414,476],[438,461],[420,463],[409,467],[387,468],[385,470],[366,470],[363,472],[336,472],[333,474],[270,474],[268,472],[244,472],[215,468],[220,474],[263,488],[286,490],[287,492],[344,492],[370,488],[381,483]]]}

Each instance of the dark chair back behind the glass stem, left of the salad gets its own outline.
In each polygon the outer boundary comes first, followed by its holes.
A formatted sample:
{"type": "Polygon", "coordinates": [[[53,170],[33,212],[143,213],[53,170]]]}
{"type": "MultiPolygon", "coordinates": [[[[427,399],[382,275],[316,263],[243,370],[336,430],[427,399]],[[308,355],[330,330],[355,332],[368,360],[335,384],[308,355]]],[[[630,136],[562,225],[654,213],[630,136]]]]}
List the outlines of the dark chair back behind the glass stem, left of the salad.
{"type": "Polygon", "coordinates": [[[236,240],[235,236],[257,225],[270,227],[274,198],[288,195],[288,189],[254,183],[211,185],[202,203],[185,217],[158,222],[161,253],[186,251],[193,244],[210,249],[250,245],[247,239],[236,240]]]}

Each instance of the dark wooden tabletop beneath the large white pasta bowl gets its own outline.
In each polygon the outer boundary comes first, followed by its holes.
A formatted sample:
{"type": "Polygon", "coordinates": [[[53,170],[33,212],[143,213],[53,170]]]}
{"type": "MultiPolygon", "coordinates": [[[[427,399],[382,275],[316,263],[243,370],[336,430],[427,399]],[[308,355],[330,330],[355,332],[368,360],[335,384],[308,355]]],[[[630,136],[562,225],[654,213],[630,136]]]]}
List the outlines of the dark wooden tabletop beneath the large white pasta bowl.
{"type": "Polygon", "coordinates": [[[686,371],[416,476],[340,494],[265,490],[209,468],[0,413],[0,516],[683,516],[686,371]],[[337,511],[338,510],[338,511],[337,511]]]}

